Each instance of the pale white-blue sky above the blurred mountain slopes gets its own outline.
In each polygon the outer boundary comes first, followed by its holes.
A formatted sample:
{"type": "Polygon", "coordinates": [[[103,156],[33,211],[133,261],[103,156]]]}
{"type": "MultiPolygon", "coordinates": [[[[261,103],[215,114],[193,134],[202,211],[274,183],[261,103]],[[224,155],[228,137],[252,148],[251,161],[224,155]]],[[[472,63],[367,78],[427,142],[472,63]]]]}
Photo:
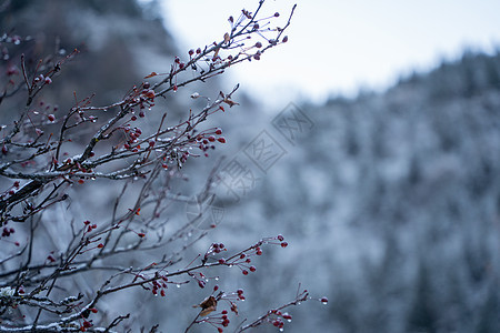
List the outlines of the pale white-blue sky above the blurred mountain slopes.
{"type": "MultiPolygon", "coordinates": [[[[219,40],[228,17],[258,0],[160,0],[166,26],[183,50],[219,40]]],[[[500,49],[500,0],[267,0],[268,11],[296,14],[289,42],[260,61],[234,67],[228,87],[241,83],[272,105],[323,102],[360,88],[383,90],[412,69],[457,59],[466,47],[500,49]]]]}

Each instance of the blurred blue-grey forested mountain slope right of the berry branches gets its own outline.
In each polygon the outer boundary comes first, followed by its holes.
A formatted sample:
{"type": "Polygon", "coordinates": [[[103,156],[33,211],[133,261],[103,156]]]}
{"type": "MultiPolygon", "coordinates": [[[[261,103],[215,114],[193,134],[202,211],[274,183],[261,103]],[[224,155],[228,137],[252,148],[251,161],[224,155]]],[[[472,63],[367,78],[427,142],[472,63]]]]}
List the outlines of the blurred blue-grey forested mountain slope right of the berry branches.
{"type": "Polygon", "coordinates": [[[301,107],[314,128],[233,215],[292,244],[283,279],[254,282],[262,300],[299,281],[330,296],[288,331],[500,331],[499,73],[500,54],[466,53],[383,94],[301,107]]]}

